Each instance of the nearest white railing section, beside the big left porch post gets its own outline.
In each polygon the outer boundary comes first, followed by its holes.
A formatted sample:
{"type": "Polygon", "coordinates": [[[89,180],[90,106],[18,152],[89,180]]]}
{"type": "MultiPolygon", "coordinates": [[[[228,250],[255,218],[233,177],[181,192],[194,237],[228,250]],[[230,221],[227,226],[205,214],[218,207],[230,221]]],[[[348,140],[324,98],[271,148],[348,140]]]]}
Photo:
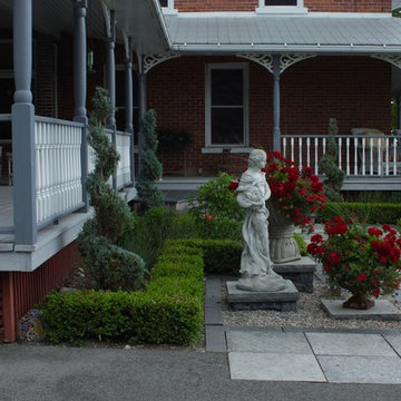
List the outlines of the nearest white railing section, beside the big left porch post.
{"type": "Polygon", "coordinates": [[[84,126],[35,118],[37,224],[45,225],[82,207],[81,143],[84,126]]]}

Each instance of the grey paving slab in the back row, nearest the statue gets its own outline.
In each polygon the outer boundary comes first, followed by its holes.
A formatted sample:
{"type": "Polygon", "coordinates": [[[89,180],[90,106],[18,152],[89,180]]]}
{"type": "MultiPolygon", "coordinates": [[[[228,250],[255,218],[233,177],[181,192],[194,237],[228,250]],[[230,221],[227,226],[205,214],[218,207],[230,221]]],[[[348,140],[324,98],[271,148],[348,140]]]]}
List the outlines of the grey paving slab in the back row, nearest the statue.
{"type": "Polygon", "coordinates": [[[313,354],[303,333],[228,331],[227,348],[228,352],[313,354]]]}

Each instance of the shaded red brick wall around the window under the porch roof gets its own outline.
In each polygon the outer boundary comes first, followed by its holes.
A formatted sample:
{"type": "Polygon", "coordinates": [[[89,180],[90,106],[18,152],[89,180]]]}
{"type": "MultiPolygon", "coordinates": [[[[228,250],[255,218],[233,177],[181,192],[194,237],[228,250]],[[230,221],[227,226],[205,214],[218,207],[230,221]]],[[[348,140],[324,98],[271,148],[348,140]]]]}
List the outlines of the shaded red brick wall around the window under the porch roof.
{"type": "MultiPolygon", "coordinates": [[[[160,153],[164,170],[204,175],[239,170],[239,156],[202,155],[205,146],[205,67],[207,62],[243,62],[237,58],[182,57],[160,63],[147,76],[148,107],[159,128],[185,129],[194,137],[183,151],[160,153]]],[[[282,134],[325,134],[329,118],[340,134],[353,127],[389,131],[390,65],[364,57],[317,57],[301,61],[281,77],[282,134]]],[[[250,135],[252,146],[272,148],[272,75],[250,62],[250,135]]],[[[241,162],[245,164],[244,162],[241,162]]]]}

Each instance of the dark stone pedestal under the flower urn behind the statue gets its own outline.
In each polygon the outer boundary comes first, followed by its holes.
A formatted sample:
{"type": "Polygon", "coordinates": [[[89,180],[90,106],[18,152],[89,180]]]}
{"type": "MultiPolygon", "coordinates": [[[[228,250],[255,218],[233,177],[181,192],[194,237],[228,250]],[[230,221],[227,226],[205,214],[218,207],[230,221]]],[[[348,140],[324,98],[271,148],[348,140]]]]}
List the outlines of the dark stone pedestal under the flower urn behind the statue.
{"type": "Polygon", "coordinates": [[[299,261],[274,263],[274,272],[286,280],[291,280],[300,292],[313,293],[313,273],[316,262],[307,256],[299,261]]]}

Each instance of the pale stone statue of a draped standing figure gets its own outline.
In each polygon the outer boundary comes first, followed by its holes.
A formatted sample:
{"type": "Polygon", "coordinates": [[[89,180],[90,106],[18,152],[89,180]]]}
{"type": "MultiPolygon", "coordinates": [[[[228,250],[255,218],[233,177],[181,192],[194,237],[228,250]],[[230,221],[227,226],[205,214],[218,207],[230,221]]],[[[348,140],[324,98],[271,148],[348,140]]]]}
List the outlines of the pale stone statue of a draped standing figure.
{"type": "Polygon", "coordinates": [[[261,149],[251,151],[248,169],[241,176],[236,189],[237,202],[245,209],[242,228],[244,250],[241,256],[242,278],[237,288],[244,291],[282,291],[285,280],[273,272],[273,262],[268,252],[268,232],[266,200],[271,190],[265,173],[266,154],[261,149]]]}

